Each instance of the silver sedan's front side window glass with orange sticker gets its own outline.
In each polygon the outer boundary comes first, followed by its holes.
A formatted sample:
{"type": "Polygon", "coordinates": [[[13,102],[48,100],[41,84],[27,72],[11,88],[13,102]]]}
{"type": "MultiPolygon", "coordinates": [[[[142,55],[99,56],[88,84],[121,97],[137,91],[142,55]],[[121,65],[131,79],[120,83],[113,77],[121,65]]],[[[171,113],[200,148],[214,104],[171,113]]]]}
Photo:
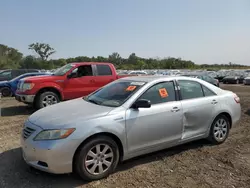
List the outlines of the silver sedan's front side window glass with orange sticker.
{"type": "Polygon", "coordinates": [[[151,104],[175,101],[175,87],[173,82],[158,83],[149,88],[139,99],[150,100],[151,104]]]}

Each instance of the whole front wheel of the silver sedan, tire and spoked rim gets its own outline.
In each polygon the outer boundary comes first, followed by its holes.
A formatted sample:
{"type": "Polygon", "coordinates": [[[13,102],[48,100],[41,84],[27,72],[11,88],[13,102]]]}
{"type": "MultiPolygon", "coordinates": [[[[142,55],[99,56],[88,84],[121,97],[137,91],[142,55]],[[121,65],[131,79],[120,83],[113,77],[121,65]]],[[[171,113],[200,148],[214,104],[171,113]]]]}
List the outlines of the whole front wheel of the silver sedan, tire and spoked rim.
{"type": "Polygon", "coordinates": [[[99,136],[84,144],[77,152],[74,169],[84,180],[92,181],[107,177],[119,161],[116,142],[107,136],[99,136]]]}

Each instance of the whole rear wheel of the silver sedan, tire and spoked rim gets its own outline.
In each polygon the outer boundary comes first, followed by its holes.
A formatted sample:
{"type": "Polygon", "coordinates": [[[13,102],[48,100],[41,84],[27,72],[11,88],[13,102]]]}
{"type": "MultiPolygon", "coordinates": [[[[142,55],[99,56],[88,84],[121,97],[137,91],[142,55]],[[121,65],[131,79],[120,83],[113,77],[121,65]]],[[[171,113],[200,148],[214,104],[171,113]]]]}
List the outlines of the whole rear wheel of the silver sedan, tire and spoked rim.
{"type": "Polygon", "coordinates": [[[210,128],[209,140],[213,144],[223,143],[229,134],[230,122],[225,115],[219,115],[210,128]]]}

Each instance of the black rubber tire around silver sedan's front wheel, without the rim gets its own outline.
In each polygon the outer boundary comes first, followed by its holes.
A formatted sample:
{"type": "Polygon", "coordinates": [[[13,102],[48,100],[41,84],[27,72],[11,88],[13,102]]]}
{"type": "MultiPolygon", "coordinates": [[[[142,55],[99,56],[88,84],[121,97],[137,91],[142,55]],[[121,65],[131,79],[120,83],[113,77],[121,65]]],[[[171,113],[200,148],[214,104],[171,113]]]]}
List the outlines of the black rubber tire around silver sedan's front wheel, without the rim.
{"type": "MultiPolygon", "coordinates": [[[[115,170],[119,162],[119,156],[120,155],[119,155],[118,146],[112,138],[108,136],[98,136],[89,140],[86,144],[82,145],[81,148],[78,150],[75,156],[75,160],[74,160],[74,170],[85,181],[99,180],[99,179],[108,177],[115,170]],[[112,149],[113,160],[111,162],[110,167],[107,168],[105,172],[103,172],[102,174],[94,175],[88,172],[87,167],[84,163],[85,163],[85,159],[87,157],[88,152],[93,147],[99,144],[108,145],[112,149]]],[[[99,169],[99,167],[96,167],[96,168],[99,169]]]]}

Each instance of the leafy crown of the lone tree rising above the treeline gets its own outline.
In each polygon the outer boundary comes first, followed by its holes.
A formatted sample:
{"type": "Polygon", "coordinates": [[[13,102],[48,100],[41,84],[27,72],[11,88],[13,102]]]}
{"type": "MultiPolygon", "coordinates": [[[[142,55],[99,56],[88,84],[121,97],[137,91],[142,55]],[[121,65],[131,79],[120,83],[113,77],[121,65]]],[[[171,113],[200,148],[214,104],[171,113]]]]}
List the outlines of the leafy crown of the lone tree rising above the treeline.
{"type": "Polygon", "coordinates": [[[34,50],[43,61],[46,61],[49,56],[54,54],[56,51],[49,44],[45,43],[33,43],[29,45],[30,50],[34,50]]]}

